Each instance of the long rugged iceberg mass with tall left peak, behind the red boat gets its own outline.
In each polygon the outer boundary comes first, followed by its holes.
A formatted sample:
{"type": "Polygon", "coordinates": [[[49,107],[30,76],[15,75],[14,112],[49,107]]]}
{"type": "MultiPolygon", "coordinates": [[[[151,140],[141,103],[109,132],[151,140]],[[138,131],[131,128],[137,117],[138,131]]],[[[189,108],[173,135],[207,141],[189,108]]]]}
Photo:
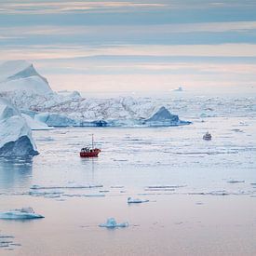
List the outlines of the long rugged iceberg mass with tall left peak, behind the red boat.
{"type": "MultiPolygon", "coordinates": [[[[147,99],[132,97],[85,99],[79,92],[54,92],[47,79],[26,61],[0,66],[0,96],[21,113],[49,127],[152,127],[181,126],[178,115],[147,99]]],[[[28,119],[28,118],[27,118],[28,119]]],[[[32,123],[32,120],[29,119],[32,123]]]]}

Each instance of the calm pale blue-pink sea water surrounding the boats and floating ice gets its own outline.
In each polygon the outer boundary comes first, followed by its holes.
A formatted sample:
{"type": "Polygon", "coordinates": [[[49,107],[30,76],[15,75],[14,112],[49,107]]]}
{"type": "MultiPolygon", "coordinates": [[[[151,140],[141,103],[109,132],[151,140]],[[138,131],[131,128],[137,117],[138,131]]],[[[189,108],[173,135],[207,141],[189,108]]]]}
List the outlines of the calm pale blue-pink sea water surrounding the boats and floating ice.
{"type": "Polygon", "coordinates": [[[0,244],[14,236],[0,255],[255,254],[255,105],[230,101],[168,102],[193,121],[179,128],[34,131],[40,155],[0,159],[0,210],[46,218],[0,220],[0,244]],[[92,133],[101,155],[82,159],[92,133]],[[88,184],[102,187],[75,188],[88,184]],[[128,196],[150,202],[128,206],[128,196]],[[109,217],[130,226],[98,227],[109,217]]]}

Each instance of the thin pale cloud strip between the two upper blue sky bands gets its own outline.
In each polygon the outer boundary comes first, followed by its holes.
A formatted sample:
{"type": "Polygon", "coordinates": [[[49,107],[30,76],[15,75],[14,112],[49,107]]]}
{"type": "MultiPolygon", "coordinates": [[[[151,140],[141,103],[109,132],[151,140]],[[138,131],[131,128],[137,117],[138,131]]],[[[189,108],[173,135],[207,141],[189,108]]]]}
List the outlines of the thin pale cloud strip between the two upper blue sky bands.
{"type": "Polygon", "coordinates": [[[162,25],[98,25],[95,26],[30,26],[0,27],[2,36],[24,35],[74,35],[74,34],[185,34],[185,33],[224,33],[256,31],[256,21],[201,22],[188,24],[162,25]]]}

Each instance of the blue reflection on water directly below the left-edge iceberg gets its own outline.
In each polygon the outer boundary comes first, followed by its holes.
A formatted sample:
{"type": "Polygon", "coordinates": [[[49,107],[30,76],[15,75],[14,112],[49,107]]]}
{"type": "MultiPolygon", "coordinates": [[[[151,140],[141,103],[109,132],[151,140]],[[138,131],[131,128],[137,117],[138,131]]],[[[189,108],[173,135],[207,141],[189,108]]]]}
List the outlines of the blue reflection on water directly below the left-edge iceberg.
{"type": "Polygon", "coordinates": [[[0,191],[13,192],[31,183],[33,157],[0,157],[0,191]]]}

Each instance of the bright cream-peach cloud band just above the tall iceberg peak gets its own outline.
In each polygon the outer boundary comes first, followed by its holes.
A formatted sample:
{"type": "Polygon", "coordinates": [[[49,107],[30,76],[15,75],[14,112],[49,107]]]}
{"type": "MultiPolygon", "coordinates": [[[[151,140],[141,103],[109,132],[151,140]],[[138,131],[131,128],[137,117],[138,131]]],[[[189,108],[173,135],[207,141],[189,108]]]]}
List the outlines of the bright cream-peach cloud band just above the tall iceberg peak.
{"type": "Polygon", "coordinates": [[[1,47],[2,60],[74,59],[92,56],[256,57],[256,44],[1,47]]]}

